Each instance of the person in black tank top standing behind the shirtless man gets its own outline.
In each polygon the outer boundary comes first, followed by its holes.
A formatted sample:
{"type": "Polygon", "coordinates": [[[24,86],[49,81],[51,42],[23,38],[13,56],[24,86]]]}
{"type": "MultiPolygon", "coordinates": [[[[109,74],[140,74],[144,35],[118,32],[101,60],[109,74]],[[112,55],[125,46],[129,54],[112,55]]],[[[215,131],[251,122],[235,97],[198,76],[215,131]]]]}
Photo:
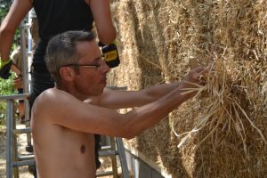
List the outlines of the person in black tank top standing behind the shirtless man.
{"type": "MultiPolygon", "coordinates": [[[[93,24],[102,44],[111,44],[117,36],[109,0],[14,0],[0,27],[0,77],[10,76],[13,65],[9,53],[15,30],[32,8],[36,12],[40,41],[31,65],[30,109],[40,93],[54,86],[44,62],[46,46],[53,36],[68,30],[91,31],[93,24]]],[[[99,142],[100,136],[95,135],[97,167],[101,165],[97,151],[101,147],[99,142]]]]}

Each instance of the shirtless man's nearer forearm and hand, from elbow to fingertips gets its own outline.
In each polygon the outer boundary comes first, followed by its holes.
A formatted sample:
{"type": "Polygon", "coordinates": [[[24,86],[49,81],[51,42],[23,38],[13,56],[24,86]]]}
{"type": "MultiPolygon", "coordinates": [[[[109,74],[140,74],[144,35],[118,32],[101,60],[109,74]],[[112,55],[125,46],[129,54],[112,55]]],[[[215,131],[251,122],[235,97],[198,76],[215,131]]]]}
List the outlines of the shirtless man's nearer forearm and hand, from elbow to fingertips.
{"type": "MultiPolygon", "coordinates": [[[[180,84],[178,83],[176,85],[168,86],[170,88],[168,88],[166,85],[166,91],[177,86],[172,92],[167,93],[157,101],[153,101],[138,109],[128,112],[127,114],[130,115],[130,118],[128,117],[126,122],[127,125],[125,126],[125,133],[128,133],[127,138],[134,137],[142,130],[155,125],[160,119],[166,117],[168,113],[178,108],[184,101],[192,98],[197,93],[196,90],[192,90],[190,93],[188,93],[183,92],[184,89],[197,89],[198,85],[203,85],[203,81],[200,80],[200,77],[206,72],[207,69],[200,66],[190,70],[189,74],[184,77],[180,84]]],[[[161,87],[164,88],[165,85],[161,87]]],[[[153,88],[151,90],[153,90],[153,88]]]]}

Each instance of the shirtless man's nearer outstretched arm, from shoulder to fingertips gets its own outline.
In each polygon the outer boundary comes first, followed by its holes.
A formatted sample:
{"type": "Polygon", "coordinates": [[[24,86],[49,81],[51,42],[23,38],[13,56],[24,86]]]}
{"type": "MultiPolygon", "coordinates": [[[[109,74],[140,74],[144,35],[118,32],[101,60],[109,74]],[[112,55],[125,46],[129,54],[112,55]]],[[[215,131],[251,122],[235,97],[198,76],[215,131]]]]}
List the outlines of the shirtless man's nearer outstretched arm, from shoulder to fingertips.
{"type": "Polygon", "coordinates": [[[114,109],[86,104],[69,93],[50,89],[35,101],[33,124],[37,118],[43,122],[49,122],[50,125],[60,125],[79,132],[132,138],[158,123],[169,112],[190,99],[194,93],[182,93],[182,90],[197,87],[190,83],[200,84],[198,78],[203,71],[205,69],[201,68],[190,71],[190,74],[172,92],[126,114],[117,113],[114,109]]]}

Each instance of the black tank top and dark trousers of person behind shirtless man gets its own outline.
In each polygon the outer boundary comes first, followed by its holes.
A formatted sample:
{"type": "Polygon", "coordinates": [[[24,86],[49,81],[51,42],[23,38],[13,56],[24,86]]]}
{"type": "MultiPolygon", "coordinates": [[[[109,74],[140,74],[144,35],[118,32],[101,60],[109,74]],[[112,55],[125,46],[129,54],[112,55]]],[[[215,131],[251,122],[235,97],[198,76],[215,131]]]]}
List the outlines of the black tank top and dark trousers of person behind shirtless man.
{"type": "MultiPolygon", "coordinates": [[[[54,86],[53,79],[44,61],[49,40],[65,31],[91,31],[93,28],[93,14],[85,0],[34,0],[33,6],[39,25],[40,42],[37,44],[32,63],[31,93],[29,95],[30,109],[40,93],[54,86]]],[[[100,148],[100,139],[96,135],[95,161],[97,168],[100,166],[98,159],[98,150],[100,148]]]]}

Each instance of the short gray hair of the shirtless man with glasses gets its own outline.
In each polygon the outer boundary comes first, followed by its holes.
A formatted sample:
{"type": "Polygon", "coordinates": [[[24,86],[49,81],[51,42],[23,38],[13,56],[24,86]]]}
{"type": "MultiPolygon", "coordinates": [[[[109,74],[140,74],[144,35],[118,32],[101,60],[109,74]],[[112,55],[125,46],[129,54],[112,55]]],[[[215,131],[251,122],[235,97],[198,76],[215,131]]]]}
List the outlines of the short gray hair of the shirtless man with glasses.
{"type": "Polygon", "coordinates": [[[54,36],[48,43],[45,54],[46,67],[56,84],[61,83],[60,69],[67,64],[77,64],[77,43],[93,41],[92,32],[66,31],[54,36]]]}

